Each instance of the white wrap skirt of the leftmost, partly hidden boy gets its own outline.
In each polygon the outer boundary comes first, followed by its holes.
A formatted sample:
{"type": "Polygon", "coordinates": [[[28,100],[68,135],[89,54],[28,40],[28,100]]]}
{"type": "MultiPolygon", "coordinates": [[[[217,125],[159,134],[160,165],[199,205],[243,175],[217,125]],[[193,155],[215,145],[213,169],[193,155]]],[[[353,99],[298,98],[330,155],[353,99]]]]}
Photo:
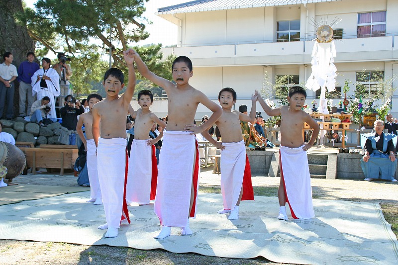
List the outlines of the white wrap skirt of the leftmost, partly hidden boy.
{"type": "Polygon", "coordinates": [[[98,178],[98,164],[96,154],[96,143],[94,139],[87,140],[87,171],[90,180],[90,198],[102,198],[100,180],[98,178]]]}

